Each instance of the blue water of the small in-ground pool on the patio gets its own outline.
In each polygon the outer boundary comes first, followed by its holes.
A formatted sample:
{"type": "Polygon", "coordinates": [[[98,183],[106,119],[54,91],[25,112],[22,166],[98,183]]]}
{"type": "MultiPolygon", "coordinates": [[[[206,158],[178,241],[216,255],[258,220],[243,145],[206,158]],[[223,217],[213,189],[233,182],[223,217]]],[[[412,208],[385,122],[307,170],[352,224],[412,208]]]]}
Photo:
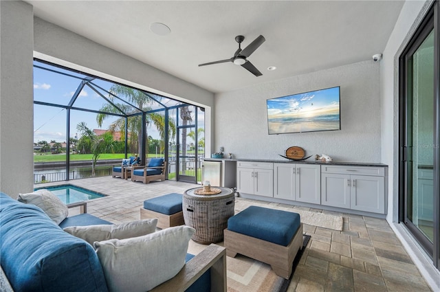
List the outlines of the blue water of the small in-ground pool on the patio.
{"type": "Polygon", "coordinates": [[[58,198],[65,204],[78,203],[81,201],[89,201],[93,199],[102,198],[104,194],[87,190],[85,188],[80,188],[72,185],[61,185],[52,186],[47,188],[35,188],[34,190],[46,189],[50,190],[53,194],[58,196],[58,198]]]}

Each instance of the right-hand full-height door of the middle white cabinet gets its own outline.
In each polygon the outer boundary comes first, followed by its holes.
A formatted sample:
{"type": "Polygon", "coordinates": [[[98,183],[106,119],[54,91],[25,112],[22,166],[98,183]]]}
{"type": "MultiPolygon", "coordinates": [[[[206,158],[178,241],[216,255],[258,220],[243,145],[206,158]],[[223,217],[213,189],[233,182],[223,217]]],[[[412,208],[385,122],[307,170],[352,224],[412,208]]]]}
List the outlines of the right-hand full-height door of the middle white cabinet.
{"type": "Polygon", "coordinates": [[[321,166],[296,164],[296,201],[321,203],[321,166]]]}

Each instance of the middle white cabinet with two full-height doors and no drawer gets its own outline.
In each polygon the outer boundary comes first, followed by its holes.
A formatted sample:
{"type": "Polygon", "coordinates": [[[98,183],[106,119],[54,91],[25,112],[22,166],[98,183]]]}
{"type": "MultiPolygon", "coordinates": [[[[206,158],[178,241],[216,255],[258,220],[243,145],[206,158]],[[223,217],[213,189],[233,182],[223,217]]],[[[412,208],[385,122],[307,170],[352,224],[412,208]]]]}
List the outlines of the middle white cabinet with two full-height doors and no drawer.
{"type": "Polygon", "coordinates": [[[274,198],[321,203],[319,165],[274,164],[274,198]]]}

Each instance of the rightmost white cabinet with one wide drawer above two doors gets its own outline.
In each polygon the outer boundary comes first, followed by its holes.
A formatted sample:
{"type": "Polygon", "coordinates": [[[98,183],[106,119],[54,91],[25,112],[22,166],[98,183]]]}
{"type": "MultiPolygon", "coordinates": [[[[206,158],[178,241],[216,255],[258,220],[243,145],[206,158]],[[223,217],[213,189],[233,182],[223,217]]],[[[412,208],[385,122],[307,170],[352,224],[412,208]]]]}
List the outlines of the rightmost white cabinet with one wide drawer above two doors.
{"type": "Polygon", "coordinates": [[[322,166],[321,204],[385,214],[385,169],[322,166]]]}

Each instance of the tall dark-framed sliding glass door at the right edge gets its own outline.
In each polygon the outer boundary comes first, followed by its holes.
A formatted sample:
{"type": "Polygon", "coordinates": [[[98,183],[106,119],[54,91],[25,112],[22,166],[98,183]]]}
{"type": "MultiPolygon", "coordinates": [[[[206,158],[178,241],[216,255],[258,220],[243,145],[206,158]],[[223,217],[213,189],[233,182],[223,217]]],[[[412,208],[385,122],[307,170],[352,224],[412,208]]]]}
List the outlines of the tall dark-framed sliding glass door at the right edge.
{"type": "Polygon", "coordinates": [[[437,5],[434,5],[400,58],[399,182],[400,220],[432,256],[434,265],[439,267],[437,5]]]}

